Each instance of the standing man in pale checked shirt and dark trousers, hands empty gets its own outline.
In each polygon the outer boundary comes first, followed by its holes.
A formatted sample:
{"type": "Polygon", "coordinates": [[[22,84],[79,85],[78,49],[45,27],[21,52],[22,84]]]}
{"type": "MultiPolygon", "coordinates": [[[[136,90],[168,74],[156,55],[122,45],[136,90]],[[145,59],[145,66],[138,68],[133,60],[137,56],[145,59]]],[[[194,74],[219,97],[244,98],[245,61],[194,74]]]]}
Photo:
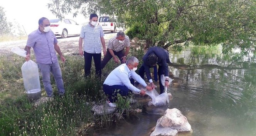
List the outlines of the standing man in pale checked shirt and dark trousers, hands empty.
{"type": "Polygon", "coordinates": [[[91,14],[90,22],[81,28],[79,54],[84,56],[84,77],[91,76],[91,61],[94,60],[96,78],[101,78],[101,44],[106,55],[105,39],[102,27],[98,24],[98,15],[91,14]],[[84,43],[83,43],[84,40],[84,43]],[[84,50],[82,49],[84,45],[84,50]]]}

